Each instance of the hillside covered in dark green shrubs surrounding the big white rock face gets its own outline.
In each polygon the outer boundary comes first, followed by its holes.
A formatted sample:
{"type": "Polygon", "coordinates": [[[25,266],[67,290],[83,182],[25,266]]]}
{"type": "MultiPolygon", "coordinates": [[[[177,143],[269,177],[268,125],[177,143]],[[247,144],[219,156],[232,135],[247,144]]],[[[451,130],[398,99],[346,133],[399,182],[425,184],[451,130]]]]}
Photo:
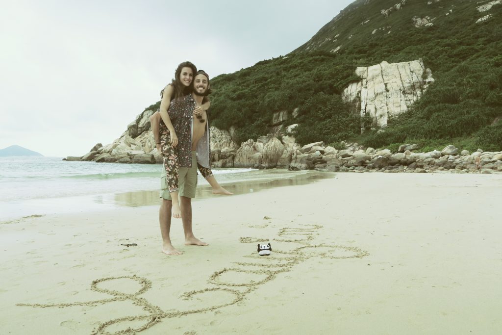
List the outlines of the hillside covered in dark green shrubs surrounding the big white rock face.
{"type": "Polygon", "coordinates": [[[256,139],[270,132],[274,112],[298,107],[298,117],[285,126],[299,124],[294,134],[301,144],[502,150],[500,50],[502,4],[496,1],[358,0],[290,54],[212,79],[212,125],[234,126],[237,142],[256,139]],[[493,5],[478,11],[486,4],[493,5]],[[420,21],[432,25],[416,27],[420,21]],[[418,59],[435,83],[384,132],[361,135],[360,116],[341,99],[360,79],[355,68],[418,59]]]}

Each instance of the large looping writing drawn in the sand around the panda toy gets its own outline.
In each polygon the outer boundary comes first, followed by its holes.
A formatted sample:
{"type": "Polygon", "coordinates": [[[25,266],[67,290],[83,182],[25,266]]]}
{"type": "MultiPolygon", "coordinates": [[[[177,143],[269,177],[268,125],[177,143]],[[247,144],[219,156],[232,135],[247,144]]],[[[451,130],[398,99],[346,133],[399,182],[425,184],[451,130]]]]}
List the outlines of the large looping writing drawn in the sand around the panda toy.
{"type": "MultiPolygon", "coordinates": [[[[258,287],[266,282],[274,280],[279,273],[290,271],[295,265],[303,262],[311,257],[321,257],[321,258],[332,258],[332,259],[344,259],[344,258],[362,258],[367,256],[368,253],[355,247],[345,247],[338,245],[329,244],[312,244],[311,242],[315,239],[317,231],[322,228],[319,225],[301,225],[299,228],[283,228],[278,233],[278,238],[273,241],[276,242],[286,242],[286,243],[296,243],[300,247],[294,248],[291,251],[284,252],[274,249],[271,256],[261,257],[257,253],[253,255],[243,256],[246,258],[244,262],[233,262],[234,266],[230,268],[224,268],[213,273],[209,279],[208,283],[212,284],[212,287],[207,287],[201,290],[185,292],[181,295],[183,300],[193,299],[195,296],[202,295],[208,292],[225,292],[230,293],[231,298],[228,301],[200,309],[189,309],[189,310],[175,310],[175,311],[163,311],[159,306],[155,306],[148,302],[145,298],[140,297],[141,294],[152,288],[152,282],[146,278],[138,276],[121,276],[121,277],[108,277],[100,278],[92,281],[91,290],[111,295],[111,298],[94,300],[94,301],[84,301],[84,302],[72,302],[72,303],[60,303],[60,304],[29,304],[29,303],[19,303],[18,306],[30,306],[30,307],[71,307],[71,306],[84,306],[84,305],[97,305],[105,304],[112,301],[130,301],[136,304],[147,312],[144,315],[133,315],[124,316],[108,320],[100,323],[97,328],[93,329],[91,334],[110,334],[107,328],[111,325],[116,325],[121,322],[128,321],[144,321],[141,326],[132,328],[127,327],[125,329],[113,332],[111,334],[135,334],[141,332],[147,328],[154,326],[157,322],[160,322],[164,318],[180,317],[183,315],[202,313],[210,310],[216,310],[225,306],[233,305],[239,301],[242,301],[244,297],[253,290],[258,289],[258,287]],[[341,253],[338,255],[336,251],[341,253]],[[247,259],[249,259],[247,261],[247,259]],[[253,261],[256,259],[256,261],[253,261]],[[258,261],[259,259],[259,261],[258,261]],[[246,269],[243,269],[245,267],[246,269]],[[253,269],[256,267],[256,269],[253,269]],[[263,279],[258,281],[250,280],[244,283],[233,283],[230,281],[225,281],[222,275],[229,272],[240,272],[246,274],[263,275],[263,279]],[[129,279],[136,281],[141,285],[141,288],[135,293],[124,293],[120,291],[115,291],[111,289],[105,289],[99,285],[104,282],[109,282],[113,280],[123,280],[129,279]],[[233,289],[239,288],[239,289],[233,289]],[[243,289],[243,290],[242,290],[243,289]]],[[[269,239],[258,239],[244,237],[240,238],[241,243],[259,243],[264,241],[270,241],[269,239]]],[[[137,324],[137,323],[135,323],[137,324]]]]}

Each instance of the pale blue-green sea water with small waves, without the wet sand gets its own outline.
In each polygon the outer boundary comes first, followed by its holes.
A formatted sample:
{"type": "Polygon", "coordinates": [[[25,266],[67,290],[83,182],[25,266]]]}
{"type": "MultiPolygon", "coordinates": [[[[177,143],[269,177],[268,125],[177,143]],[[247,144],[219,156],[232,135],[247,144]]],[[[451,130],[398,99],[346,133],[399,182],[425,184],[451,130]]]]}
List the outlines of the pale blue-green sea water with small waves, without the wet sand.
{"type": "MultiPolygon", "coordinates": [[[[61,158],[0,158],[0,201],[118,193],[160,188],[162,164],[67,162],[61,158]]],[[[222,182],[254,169],[215,169],[222,182]]],[[[199,176],[199,183],[205,180],[199,176]]]]}

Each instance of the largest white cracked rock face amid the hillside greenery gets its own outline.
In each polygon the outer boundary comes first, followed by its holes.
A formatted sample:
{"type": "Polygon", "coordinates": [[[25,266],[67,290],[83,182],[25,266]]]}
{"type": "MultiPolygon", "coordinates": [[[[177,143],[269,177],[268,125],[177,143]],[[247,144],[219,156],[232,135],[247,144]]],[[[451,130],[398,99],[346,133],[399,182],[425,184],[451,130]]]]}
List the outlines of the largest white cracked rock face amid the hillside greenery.
{"type": "Polygon", "coordinates": [[[404,113],[433,82],[432,73],[422,60],[403,63],[383,61],[378,65],[358,67],[355,73],[362,79],[349,84],[342,93],[344,102],[351,103],[361,117],[369,116],[372,127],[387,125],[389,118],[404,113]],[[423,79],[423,74],[429,76],[423,79]]]}

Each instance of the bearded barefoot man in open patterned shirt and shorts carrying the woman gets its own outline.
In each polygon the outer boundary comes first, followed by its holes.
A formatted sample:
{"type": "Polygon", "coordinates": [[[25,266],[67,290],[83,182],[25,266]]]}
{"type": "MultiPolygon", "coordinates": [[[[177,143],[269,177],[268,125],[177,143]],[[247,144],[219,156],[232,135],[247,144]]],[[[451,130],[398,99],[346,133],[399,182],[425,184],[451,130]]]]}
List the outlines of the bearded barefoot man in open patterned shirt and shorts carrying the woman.
{"type": "MultiPolygon", "coordinates": [[[[194,109],[202,104],[202,99],[209,92],[209,76],[203,70],[199,70],[193,80],[193,93],[171,101],[168,110],[178,135],[178,181],[185,245],[208,245],[193,235],[191,201],[195,197],[197,187],[197,162],[209,168],[209,129],[205,110],[199,108],[194,119],[194,109]]],[[[172,202],[165,175],[161,177],[161,184],[162,203],[159,210],[159,222],[163,242],[162,252],[167,255],[181,255],[182,253],[173,247],[169,236],[172,202]]]]}

